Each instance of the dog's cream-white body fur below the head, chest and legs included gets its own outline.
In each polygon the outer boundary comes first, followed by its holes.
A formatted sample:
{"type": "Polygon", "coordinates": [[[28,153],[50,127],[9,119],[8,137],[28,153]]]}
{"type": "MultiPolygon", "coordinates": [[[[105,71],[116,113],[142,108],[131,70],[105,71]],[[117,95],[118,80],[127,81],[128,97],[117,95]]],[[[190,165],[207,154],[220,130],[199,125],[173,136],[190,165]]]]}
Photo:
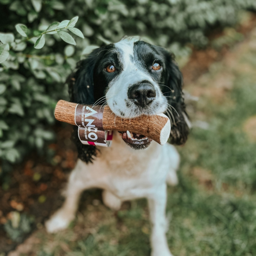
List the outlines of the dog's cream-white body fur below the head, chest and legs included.
{"type": "Polygon", "coordinates": [[[133,150],[114,132],[110,148],[101,148],[93,164],[77,161],[66,191],[66,201],[46,222],[48,232],[67,228],[75,218],[81,192],[89,188],[103,189],[104,203],[118,210],[126,200],[146,197],[152,223],[151,256],[171,256],[165,236],[166,182],[177,184],[179,166],[176,149],[152,141],[144,150],[133,150]]]}

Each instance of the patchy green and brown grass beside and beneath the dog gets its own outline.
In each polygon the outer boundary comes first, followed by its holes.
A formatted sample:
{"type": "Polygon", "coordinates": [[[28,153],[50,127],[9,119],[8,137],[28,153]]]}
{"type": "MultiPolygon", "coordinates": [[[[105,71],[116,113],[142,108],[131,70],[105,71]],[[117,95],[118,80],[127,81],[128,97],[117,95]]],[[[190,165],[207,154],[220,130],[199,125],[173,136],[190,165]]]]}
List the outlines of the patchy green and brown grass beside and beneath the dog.
{"type": "MultiPolygon", "coordinates": [[[[199,95],[195,126],[184,147],[179,185],[168,188],[169,247],[180,256],[256,255],[256,30],[209,73],[187,85],[199,95]],[[254,43],[253,43],[254,42],[254,43]]],[[[99,192],[84,193],[76,221],[66,231],[47,235],[23,255],[150,255],[146,200],[125,203],[117,213],[99,192]]],[[[21,254],[22,255],[22,254],[21,254]]]]}

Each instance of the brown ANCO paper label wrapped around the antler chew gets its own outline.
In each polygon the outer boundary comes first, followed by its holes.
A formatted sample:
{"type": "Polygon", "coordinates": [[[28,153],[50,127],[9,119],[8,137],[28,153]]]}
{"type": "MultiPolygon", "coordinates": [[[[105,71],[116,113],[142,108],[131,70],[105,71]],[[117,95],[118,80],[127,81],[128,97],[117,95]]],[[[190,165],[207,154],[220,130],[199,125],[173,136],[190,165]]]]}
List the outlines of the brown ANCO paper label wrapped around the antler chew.
{"type": "Polygon", "coordinates": [[[104,147],[111,145],[112,131],[103,129],[103,109],[100,105],[76,105],[75,123],[83,144],[104,147]]]}

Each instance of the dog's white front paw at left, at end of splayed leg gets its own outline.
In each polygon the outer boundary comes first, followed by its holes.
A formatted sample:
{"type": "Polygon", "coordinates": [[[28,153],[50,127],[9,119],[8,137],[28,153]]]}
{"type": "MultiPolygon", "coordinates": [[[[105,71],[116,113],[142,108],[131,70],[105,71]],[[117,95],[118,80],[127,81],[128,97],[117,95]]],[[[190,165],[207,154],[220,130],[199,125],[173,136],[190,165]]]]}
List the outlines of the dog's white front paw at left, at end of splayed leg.
{"type": "Polygon", "coordinates": [[[48,233],[56,233],[68,227],[69,223],[74,219],[74,216],[67,216],[64,212],[55,212],[50,220],[45,222],[45,228],[48,233]]]}

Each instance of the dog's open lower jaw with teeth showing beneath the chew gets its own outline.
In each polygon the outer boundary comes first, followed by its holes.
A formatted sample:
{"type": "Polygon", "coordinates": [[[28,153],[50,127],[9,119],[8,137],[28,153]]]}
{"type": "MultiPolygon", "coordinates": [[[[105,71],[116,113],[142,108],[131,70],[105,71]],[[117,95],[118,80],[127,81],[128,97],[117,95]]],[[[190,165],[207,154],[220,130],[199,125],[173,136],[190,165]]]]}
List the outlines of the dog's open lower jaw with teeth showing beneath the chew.
{"type": "Polygon", "coordinates": [[[133,149],[144,149],[148,148],[152,139],[135,132],[120,132],[124,142],[133,149]]]}

